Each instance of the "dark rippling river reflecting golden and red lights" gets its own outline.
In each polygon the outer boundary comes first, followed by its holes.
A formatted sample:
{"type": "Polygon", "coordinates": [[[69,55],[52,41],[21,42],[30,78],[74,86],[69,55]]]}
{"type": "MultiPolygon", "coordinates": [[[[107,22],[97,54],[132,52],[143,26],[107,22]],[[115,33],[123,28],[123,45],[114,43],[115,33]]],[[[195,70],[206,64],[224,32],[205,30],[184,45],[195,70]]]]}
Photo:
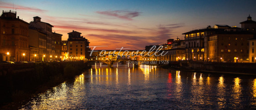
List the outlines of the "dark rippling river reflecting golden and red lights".
{"type": "Polygon", "coordinates": [[[255,109],[256,76],[93,66],[20,109],[255,109]]]}

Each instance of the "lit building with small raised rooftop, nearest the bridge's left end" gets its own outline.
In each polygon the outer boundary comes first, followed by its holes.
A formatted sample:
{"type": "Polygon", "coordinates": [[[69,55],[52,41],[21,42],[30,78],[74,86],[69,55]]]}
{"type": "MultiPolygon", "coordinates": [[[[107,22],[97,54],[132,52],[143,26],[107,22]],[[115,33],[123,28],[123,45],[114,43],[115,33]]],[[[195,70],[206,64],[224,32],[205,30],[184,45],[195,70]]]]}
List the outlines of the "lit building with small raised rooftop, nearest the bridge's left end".
{"type": "Polygon", "coordinates": [[[88,52],[90,42],[85,37],[81,36],[81,34],[82,33],[74,30],[68,33],[68,57],[72,60],[85,60],[90,58],[90,52],[88,52]]]}

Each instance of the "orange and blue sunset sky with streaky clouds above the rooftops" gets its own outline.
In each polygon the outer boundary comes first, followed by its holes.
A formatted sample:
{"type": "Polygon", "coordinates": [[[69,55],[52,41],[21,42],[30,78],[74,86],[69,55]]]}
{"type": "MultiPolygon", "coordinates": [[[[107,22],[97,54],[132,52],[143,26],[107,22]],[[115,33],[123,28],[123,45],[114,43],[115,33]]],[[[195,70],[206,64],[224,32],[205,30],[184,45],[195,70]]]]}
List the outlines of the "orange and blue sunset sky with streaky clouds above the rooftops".
{"type": "Polygon", "coordinates": [[[215,24],[238,26],[250,14],[256,21],[256,0],[1,0],[1,10],[17,11],[26,22],[34,16],[53,25],[67,40],[72,30],[100,49],[144,49],[181,38],[182,33],[215,24]],[[14,4],[14,5],[13,5],[14,4]],[[13,9],[14,6],[14,9],[13,9]]]}

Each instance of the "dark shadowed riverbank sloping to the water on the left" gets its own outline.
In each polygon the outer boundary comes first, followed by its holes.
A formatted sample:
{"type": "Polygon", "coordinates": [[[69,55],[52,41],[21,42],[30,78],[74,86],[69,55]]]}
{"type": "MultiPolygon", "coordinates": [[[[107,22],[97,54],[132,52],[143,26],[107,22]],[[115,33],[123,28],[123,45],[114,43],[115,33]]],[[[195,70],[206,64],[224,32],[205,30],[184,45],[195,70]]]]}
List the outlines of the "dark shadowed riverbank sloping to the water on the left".
{"type": "Polygon", "coordinates": [[[43,92],[87,68],[83,61],[0,65],[0,106],[43,92]]]}

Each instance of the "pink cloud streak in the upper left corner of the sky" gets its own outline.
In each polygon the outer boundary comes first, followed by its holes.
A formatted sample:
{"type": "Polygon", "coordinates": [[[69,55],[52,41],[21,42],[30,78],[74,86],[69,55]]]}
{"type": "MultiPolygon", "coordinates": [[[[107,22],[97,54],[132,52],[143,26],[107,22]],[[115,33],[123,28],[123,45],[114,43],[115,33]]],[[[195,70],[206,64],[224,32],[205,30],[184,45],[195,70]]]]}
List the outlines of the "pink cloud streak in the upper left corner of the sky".
{"type": "Polygon", "coordinates": [[[6,3],[6,2],[2,2],[0,1],[0,7],[1,8],[9,8],[9,9],[12,9],[13,7],[15,9],[20,9],[20,10],[26,10],[26,11],[34,11],[34,12],[45,12],[46,10],[41,10],[39,8],[36,8],[36,7],[24,7],[24,6],[21,6],[21,5],[16,5],[16,4],[11,4],[11,3],[6,3]]]}

